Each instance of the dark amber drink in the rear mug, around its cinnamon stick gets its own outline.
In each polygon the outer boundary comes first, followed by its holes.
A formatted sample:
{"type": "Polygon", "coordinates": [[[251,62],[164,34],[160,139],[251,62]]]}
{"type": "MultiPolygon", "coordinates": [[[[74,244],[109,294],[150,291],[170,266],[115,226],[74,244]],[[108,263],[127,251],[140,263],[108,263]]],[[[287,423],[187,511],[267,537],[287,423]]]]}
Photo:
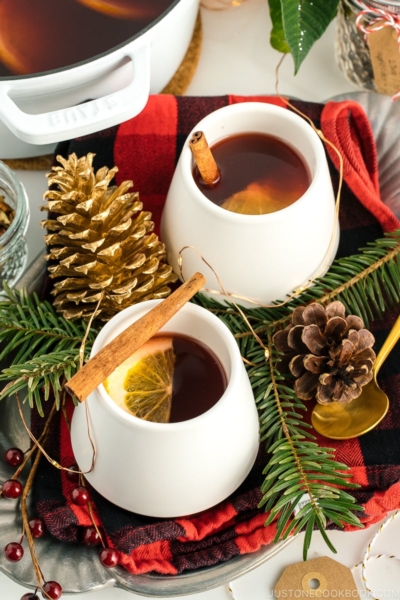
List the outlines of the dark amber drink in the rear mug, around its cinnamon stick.
{"type": "Polygon", "coordinates": [[[196,166],[193,176],[203,194],[218,206],[258,183],[273,196],[273,207],[265,212],[275,212],[298,200],[311,182],[300,154],[270,135],[244,133],[227,137],[212,146],[211,151],[221,172],[218,183],[207,186],[196,166]]]}

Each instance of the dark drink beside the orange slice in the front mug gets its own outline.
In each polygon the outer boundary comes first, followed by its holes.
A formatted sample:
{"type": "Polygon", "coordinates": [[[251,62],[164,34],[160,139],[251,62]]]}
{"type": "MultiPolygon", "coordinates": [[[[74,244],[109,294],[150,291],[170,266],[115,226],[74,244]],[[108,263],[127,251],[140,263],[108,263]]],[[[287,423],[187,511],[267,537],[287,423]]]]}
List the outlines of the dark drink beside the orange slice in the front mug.
{"type": "Polygon", "coordinates": [[[175,369],[170,423],[202,415],[223,395],[227,378],[215,354],[193,338],[172,334],[175,369]]]}

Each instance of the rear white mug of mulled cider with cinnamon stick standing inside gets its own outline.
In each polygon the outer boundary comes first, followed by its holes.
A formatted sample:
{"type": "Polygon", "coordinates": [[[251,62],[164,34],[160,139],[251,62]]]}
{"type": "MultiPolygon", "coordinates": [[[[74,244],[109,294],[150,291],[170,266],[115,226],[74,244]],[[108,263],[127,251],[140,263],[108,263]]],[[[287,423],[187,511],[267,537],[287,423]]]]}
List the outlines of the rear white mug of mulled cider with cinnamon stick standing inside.
{"type": "Polygon", "coordinates": [[[327,270],[339,241],[337,221],[325,149],[309,123],[287,108],[241,102],[210,113],[189,133],[161,239],[178,275],[180,253],[189,247],[182,254],[185,279],[200,271],[216,300],[223,301],[222,283],[234,300],[254,307],[284,300],[327,270]],[[202,173],[208,186],[195,170],[199,132],[215,153],[214,177],[202,173]]]}

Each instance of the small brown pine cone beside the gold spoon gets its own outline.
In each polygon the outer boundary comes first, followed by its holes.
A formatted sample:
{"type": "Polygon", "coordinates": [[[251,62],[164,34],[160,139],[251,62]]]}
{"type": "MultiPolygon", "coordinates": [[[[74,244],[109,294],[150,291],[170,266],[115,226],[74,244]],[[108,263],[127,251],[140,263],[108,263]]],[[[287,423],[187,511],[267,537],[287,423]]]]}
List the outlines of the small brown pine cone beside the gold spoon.
{"type": "Polygon", "coordinates": [[[301,400],[315,396],[320,404],[346,404],[372,379],[375,338],[360,317],[346,316],[339,301],[296,308],[292,324],[273,341],[296,377],[294,391],[301,400]]]}

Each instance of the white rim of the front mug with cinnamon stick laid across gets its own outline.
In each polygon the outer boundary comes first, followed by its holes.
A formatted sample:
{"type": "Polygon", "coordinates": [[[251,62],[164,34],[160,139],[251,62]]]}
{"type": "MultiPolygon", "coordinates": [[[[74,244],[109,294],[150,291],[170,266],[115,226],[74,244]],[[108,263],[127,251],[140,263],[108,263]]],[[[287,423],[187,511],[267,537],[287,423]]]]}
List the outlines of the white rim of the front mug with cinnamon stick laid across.
{"type": "MultiPolygon", "coordinates": [[[[95,354],[97,354],[97,352],[99,352],[101,350],[101,348],[103,347],[102,342],[104,342],[104,337],[108,335],[108,333],[110,332],[110,329],[117,326],[121,321],[124,321],[125,319],[129,319],[130,313],[135,313],[136,311],[140,312],[140,309],[143,309],[146,306],[148,306],[149,310],[151,310],[154,306],[156,306],[160,302],[163,302],[163,300],[145,300],[144,302],[139,302],[137,304],[133,304],[132,306],[129,306],[128,308],[125,308],[121,312],[114,315],[114,317],[112,317],[112,319],[110,319],[106,323],[106,325],[101,329],[100,333],[96,337],[96,339],[93,343],[93,346],[92,346],[92,351],[91,351],[90,357],[92,358],[92,356],[94,356],[95,354]]],[[[197,417],[194,417],[193,419],[188,419],[186,421],[179,421],[177,423],[155,423],[153,421],[145,421],[144,419],[140,419],[139,417],[136,417],[135,415],[131,415],[128,412],[126,412],[125,410],[123,410],[122,408],[120,408],[114,402],[114,400],[112,400],[112,398],[106,392],[104,385],[101,383],[92,392],[92,394],[90,394],[90,396],[98,394],[100,396],[102,402],[106,406],[106,408],[112,412],[113,416],[115,416],[119,421],[122,421],[126,425],[132,424],[137,427],[141,427],[142,429],[150,429],[153,431],[158,429],[158,432],[160,434],[165,434],[165,435],[170,435],[171,433],[176,433],[182,429],[187,429],[188,427],[195,428],[198,425],[200,425],[202,423],[202,421],[204,421],[206,419],[210,419],[216,411],[221,410],[221,405],[227,401],[226,398],[228,397],[228,395],[231,395],[232,393],[234,393],[235,387],[239,384],[240,377],[241,377],[241,371],[244,367],[242,364],[239,347],[237,346],[235,339],[233,338],[231,332],[229,331],[229,329],[225,325],[225,323],[223,323],[220,319],[218,319],[218,317],[216,317],[215,315],[210,313],[207,309],[203,308],[202,306],[193,304],[191,302],[187,302],[180,310],[189,310],[192,312],[193,316],[195,316],[197,313],[197,315],[200,316],[200,318],[204,317],[206,320],[211,321],[212,324],[215,325],[215,328],[217,329],[219,336],[222,337],[222,339],[224,340],[225,346],[228,350],[229,358],[231,361],[231,373],[230,373],[229,377],[228,377],[228,374],[226,373],[226,377],[227,377],[226,388],[225,388],[222,396],[211,408],[209,408],[206,412],[198,415],[197,417]]],[[[143,314],[146,314],[147,312],[148,311],[145,311],[143,314]]],[[[140,315],[140,316],[142,316],[142,315],[140,315]]],[[[140,316],[138,318],[140,318],[140,316]]],[[[135,319],[135,320],[137,320],[137,319],[135,319]]],[[[129,323],[127,323],[127,326],[133,322],[134,321],[130,321],[129,323]]],[[[188,337],[190,337],[190,334],[188,335],[188,337]]],[[[201,342],[201,343],[203,343],[203,342],[201,342]]],[[[204,345],[206,347],[208,347],[207,344],[204,344],[204,345]]],[[[220,357],[217,355],[215,350],[213,348],[210,348],[210,350],[215,354],[215,356],[221,362],[222,368],[225,369],[220,357]]]]}

